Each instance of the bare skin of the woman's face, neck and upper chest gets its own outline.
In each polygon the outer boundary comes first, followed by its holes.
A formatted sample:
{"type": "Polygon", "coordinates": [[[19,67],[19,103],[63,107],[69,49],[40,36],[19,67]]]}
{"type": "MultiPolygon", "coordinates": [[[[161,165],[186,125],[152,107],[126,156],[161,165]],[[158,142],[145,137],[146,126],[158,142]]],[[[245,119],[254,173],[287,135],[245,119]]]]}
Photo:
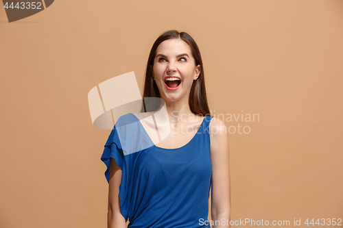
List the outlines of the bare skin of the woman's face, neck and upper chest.
{"type": "Polygon", "coordinates": [[[188,104],[189,92],[193,81],[200,75],[200,65],[191,54],[191,48],[181,39],[169,39],[161,42],[156,49],[153,77],[167,107],[171,133],[157,147],[168,149],[182,147],[196,134],[203,118],[194,115],[188,104]],[[182,55],[185,54],[185,55],[182,55]],[[167,76],[180,77],[178,90],[167,90],[164,79],[167,76]],[[193,117],[193,120],[190,120],[193,117]],[[177,132],[190,134],[176,134],[177,132]]]}

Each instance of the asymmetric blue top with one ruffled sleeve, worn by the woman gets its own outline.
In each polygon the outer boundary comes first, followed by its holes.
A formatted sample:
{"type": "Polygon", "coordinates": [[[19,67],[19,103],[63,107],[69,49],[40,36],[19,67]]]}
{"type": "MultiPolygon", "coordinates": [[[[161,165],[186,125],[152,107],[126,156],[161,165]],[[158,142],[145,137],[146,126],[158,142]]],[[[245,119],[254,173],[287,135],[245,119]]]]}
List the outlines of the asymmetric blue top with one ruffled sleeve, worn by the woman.
{"type": "Polygon", "coordinates": [[[119,198],[121,214],[130,220],[128,227],[210,227],[204,221],[209,214],[212,118],[205,116],[191,141],[176,149],[156,147],[134,114],[118,119],[101,160],[108,182],[110,157],[122,170],[119,198]],[[123,144],[144,147],[130,151],[123,144]]]}

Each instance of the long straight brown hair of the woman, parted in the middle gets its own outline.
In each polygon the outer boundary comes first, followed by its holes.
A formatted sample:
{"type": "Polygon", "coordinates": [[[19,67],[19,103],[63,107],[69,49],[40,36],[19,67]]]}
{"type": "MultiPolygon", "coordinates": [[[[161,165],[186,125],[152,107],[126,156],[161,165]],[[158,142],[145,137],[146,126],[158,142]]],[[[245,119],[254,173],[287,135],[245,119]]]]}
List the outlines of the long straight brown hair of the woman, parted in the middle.
{"type": "Polygon", "coordinates": [[[161,99],[145,99],[149,97],[158,97],[161,98],[160,91],[154,81],[152,76],[152,69],[154,67],[154,59],[156,57],[156,49],[161,42],[169,40],[172,38],[180,38],[181,40],[187,42],[189,47],[191,47],[191,52],[193,58],[196,60],[196,66],[200,64],[200,75],[198,79],[193,81],[191,86],[191,91],[189,93],[189,108],[193,114],[202,115],[202,116],[211,116],[209,111],[209,105],[207,103],[206,89],[205,89],[205,80],[204,80],[204,68],[202,66],[202,59],[200,55],[200,50],[196,41],[189,36],[186,32],[178,32],[176,30],[169,30],[161,34],[150,51],[149,58],[147,59],[147,67],[145,70],[144,77],[144,88],[143,88],[143,105],[145,108],[141,112],[152,112],[156,111],[161,105],[161,99]]]}

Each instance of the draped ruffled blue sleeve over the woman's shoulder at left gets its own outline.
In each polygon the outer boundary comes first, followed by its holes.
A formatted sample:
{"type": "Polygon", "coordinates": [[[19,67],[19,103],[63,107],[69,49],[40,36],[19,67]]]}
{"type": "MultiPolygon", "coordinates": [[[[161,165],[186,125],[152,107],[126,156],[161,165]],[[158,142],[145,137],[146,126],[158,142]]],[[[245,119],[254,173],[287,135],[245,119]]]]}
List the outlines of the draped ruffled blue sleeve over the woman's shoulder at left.
{"type": "Polygon", "coordinates": [[[118,118],[104,146],[101,160],[107,167],[105,171],[107,182],[110,182],[111,157],[122,170],[119,198],[121,214],[126,221],[132,216],[134,210],[132,189],[137,186],[134,183],[141,181],[135,175],[135,171],[136,174],[139,172],[139,166],[136,166],[137,160],[142,151],[151,148],[153,145],[154,143],[150,140],[139,119],[134,114],[128,113],[118,118]]]}

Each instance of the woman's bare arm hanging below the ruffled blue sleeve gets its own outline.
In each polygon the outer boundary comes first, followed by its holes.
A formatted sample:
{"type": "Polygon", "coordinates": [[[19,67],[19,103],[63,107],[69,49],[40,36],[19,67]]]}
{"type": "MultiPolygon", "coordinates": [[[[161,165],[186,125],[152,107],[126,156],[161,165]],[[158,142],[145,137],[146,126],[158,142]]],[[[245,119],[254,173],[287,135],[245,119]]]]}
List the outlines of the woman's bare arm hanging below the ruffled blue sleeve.
{"type": "Polygon", "coordinates": [[[110,180],[108,187],[108,228],[126,228],[126,221],[120,210],[119,186],[121,168],[110,158],[110,180]]]}

